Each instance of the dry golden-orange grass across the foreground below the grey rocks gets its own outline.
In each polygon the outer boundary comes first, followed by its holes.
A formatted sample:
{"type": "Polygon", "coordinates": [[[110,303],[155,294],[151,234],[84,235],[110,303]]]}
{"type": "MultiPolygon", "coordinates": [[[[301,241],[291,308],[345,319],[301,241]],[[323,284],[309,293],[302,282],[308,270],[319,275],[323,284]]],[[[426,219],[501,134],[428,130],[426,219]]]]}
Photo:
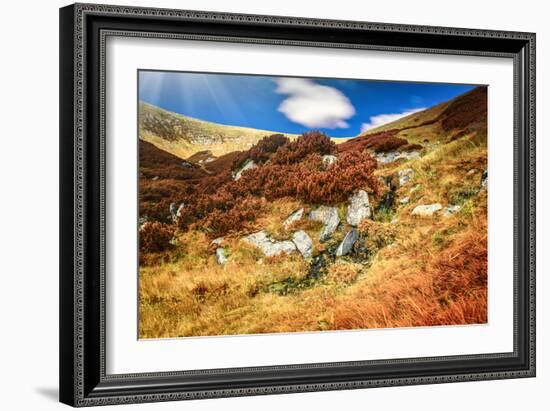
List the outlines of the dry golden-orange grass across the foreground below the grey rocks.
{"type": "Polygon", "coordinates": [[[189,245],[180,260],[141,269],[140,337],[485,323],[485,207],[482,194],[471,206],[475,213],[373,223],[372,241],[389,231],[395,241],[370,267],[341,259],[314,287],[287,295],[266,287],[305,275],[297,254],[265,258],[229,238],[230,259],[222,267],[205,236],[187,233],[179,239],[189,245]]]}

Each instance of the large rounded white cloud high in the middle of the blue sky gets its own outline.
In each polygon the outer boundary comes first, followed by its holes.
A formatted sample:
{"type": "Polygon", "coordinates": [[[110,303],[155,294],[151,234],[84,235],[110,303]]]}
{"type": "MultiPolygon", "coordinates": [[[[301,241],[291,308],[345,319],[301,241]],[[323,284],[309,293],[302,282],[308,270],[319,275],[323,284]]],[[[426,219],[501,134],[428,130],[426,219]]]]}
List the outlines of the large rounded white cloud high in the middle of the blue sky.
{"type": "Polygon", "coordinates": [[[290,121],[310,128],[347,128],[355,114],[351,101],[338,89],[308,79],[276,79],[276,93],[288,97],[279,111],[290,121]]]}

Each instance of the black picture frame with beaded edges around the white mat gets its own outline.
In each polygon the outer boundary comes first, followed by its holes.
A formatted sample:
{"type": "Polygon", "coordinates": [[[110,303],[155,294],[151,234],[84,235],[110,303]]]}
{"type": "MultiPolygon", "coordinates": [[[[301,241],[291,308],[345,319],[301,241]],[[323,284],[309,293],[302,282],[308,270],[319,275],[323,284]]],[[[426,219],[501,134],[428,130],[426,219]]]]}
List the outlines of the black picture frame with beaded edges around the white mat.
{"type": "Polygon", "coordinates": [[[73,406],[535,376],[535,34],[75,4],[60,9],[60,401],[73,406]],[[511,353],[105,373],[107,36],[509,57],[514,61],[511,353]]]}

